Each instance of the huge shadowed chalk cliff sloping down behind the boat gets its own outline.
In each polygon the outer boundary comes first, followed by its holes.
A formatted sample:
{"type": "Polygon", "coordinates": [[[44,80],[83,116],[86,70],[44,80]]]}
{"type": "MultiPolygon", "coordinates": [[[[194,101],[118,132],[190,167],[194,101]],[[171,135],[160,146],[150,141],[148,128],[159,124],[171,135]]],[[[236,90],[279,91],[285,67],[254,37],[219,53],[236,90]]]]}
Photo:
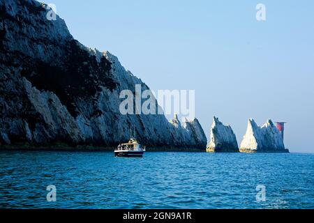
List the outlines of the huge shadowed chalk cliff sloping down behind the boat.
{"type": "MultiPolygon", "coordinates": [[[[0,146],[117,146],[130,125],[148,147],[206,148],[197,119],[122,115],[121,91],[149,87],[109,52],[80,44],[45,4],[0,0],[0,146]]],[[[154,98],[156,102],[156,99],[154,98]]],[[[157,102],[156,102],[157,105],[157,102]]]]}

